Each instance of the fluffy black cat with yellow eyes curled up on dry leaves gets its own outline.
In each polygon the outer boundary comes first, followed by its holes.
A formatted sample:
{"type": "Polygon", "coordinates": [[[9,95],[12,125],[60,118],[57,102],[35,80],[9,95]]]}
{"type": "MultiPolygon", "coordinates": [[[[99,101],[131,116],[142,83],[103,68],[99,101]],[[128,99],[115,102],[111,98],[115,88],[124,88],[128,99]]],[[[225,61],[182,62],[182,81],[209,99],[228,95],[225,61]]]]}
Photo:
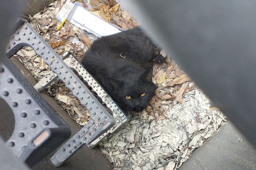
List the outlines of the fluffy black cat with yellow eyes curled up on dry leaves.
{"type": "Polygon", "coordinates": [[[95,40],[82,64],[124,111],[139,112],[155,94],[155,49],[145,33],[135,27],[95,40]]]}

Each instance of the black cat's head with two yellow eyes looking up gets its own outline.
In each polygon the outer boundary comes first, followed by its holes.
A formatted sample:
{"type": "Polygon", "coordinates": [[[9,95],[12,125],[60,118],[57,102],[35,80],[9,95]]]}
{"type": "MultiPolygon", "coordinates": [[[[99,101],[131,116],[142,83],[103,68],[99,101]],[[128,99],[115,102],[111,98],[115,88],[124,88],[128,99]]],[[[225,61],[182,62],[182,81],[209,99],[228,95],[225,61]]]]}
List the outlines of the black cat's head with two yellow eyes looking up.
{"type": "Polygon", "coordinates": [[[114,84],[112,97],[124,110],[142,111],[154,96],[156,85],[152,82],[153,68],[128,78],[129,80],[110,80],[114,84]]]}

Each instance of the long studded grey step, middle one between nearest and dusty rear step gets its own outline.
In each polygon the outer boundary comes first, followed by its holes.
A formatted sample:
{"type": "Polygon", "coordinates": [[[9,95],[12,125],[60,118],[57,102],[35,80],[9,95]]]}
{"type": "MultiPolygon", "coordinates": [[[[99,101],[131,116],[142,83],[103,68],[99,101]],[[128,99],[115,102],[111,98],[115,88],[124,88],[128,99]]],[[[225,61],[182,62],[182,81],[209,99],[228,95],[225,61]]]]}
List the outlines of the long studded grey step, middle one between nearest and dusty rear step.
{"type": "MultiPolygon", "coordinates": [[[[24,46],[33,48],[38,56],[43,58],[44,62],[51,67],[52,71],[59,76],[59,79],[66,84],[66,87],[73,92],[74,96],[80,100],[81,104],[88,109],[91,115],[89,122],[79,131],[81,132],[79,137],[80,140],[74,141],[74,139],[72,139],[72,142],[79,147],[82,146],[82,143],[91,143],[94,139],[98,138],[114,126],[114,118],[106,111],[91,91],[66,65],[58,54],[40,35],[38,35],[34,28],[24,19],[20,19],[19,24],[20,27],[12,35],[9,44],[7,45],[6,55],[8,57],[12,56],[24,46]]],[[[67,152],[69,156],[74,154],[71,150],[67,152]]],[[[62,161],[57,160],[57,157],[55,158],[56,162],[62,161]]]]}

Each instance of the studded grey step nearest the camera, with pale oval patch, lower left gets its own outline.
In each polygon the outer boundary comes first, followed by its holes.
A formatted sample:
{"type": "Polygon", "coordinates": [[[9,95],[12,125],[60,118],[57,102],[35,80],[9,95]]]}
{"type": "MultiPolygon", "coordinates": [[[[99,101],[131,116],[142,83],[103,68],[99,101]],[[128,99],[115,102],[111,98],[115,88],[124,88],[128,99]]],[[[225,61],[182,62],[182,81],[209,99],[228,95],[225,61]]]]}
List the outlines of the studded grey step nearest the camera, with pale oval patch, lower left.
{"type": "Polygon", "coordinates": [[[31,167],[64,142],[71,132],[14,64],[6,56],[0,61],[0,97],[15,117],[14,131],[6,144],[31,167]]]}

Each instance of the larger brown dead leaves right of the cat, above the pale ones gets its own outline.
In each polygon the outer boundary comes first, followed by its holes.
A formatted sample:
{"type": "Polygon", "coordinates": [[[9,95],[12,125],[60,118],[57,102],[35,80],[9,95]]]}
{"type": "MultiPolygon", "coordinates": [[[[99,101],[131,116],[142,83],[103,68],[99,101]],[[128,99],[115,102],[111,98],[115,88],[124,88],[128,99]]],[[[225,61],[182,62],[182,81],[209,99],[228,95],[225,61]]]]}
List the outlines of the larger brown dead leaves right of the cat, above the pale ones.
{"type": "Polygon", "coordinates": [[[181,68],[169,58],[163,65],[154,65],[153,81],[158,84],[158,88],[146,110],[150,115],[155,116],[156,122],[166,118],[165,111],[160,114],[158,112],[161,105],[171,104],[174,101],[182,104],[185,92],[191,91],[195,87],[195,84],[190,82],[188,75],[183,73],[181,68]]]}

